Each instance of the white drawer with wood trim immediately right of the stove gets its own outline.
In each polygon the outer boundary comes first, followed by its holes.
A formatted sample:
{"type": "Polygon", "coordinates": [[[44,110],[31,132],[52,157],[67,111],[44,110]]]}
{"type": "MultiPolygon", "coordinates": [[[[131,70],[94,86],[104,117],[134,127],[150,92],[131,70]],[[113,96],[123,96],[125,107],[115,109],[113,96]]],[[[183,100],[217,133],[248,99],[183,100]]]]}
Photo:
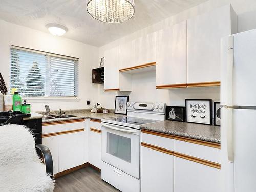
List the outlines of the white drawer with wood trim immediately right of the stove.
{"type": "Polygon", "coordinates": [[[141,131],[141,142],[174,151],[174,136],[151,131],[141,131]]]}

